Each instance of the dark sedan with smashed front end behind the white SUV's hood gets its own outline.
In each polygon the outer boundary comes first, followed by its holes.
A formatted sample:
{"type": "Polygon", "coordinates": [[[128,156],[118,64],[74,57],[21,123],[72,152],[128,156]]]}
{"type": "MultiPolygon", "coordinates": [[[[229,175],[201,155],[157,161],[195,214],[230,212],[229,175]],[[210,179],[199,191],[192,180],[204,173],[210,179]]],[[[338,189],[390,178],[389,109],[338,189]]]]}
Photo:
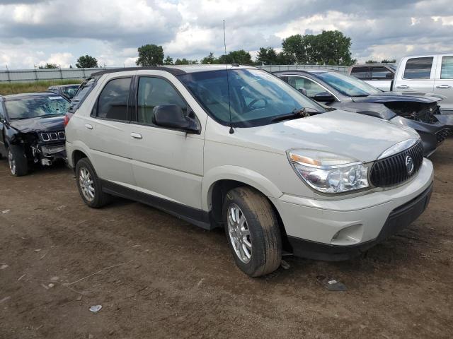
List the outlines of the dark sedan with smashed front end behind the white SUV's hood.
{"type": "Polygon", "coordinates": [[[425,156],[431,155],[453,131],[453,115],[440,114],[442,97],[426,93],[382,92],[336,71],[280,71],[275,75],[328,107],[385,119],[418,132],[425,156]]]}

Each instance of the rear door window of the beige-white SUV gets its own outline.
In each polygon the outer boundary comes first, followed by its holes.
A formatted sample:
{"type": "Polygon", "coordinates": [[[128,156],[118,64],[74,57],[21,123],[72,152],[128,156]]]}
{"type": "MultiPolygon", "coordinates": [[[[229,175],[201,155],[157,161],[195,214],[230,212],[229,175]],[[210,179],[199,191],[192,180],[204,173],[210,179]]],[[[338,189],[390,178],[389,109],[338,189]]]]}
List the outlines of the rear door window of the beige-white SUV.
{"type": "Polygon", "coordinates": [[[99,96],[98,117],[129,121],[127,102],[131,78],[113,79],[105,85],[99,96]]]}

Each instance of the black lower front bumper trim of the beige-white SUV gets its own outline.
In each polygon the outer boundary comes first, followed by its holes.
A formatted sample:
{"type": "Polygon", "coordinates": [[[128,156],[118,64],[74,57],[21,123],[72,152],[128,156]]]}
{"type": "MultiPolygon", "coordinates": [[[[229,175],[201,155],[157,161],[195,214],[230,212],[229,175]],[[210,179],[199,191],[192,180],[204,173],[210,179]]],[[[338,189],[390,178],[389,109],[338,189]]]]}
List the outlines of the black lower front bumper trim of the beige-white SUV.
{"type": "Polygon", "coordinates": [[[323,244],[321,242],[312,242],[310,240],[288,236],[289,244],[292,246],[294,256],[302,258],[311,258],[325,261],[343,261],[359,256],[362,252],[367,251],[372,246],[382,242],[392,234],[399,232],[403,228],[415,221],[426,209],[430,202],[432,194],[431,183],[428,189],[423,191],[411,201],[398,206],[391,211],[381,232],[376,239],[362,242],[357,245],[340,246],[333,244],[323,244]]]}

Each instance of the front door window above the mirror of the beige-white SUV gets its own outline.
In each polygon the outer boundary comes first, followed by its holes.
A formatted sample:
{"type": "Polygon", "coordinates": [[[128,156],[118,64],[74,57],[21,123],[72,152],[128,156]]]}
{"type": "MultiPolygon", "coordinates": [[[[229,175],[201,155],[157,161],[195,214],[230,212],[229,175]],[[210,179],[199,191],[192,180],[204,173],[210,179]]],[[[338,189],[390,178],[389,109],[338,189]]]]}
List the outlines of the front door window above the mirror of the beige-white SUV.
{"type": "Polygon", "coordinates": [[[183,98],[168,81],[161,78],[142,77],[138,90],[138,122],[154,124],[154,107],[159,105],[176,105],[187,111],[183,98]]]}

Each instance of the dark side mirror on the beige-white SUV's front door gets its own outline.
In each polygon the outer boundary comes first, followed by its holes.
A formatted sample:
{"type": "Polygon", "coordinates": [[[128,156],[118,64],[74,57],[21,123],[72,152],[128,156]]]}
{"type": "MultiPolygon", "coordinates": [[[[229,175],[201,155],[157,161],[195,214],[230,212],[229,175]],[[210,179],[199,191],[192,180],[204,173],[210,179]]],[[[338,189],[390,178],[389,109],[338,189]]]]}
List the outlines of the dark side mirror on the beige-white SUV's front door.
{"type": "Polygon", "coordinates": [[[154,107],[154,122],[158,126],[183,129],[188,133],[200,134],[200,126],[196,119],[186,117],[183,109],[176,105],[159,105],[154,107]]]}

